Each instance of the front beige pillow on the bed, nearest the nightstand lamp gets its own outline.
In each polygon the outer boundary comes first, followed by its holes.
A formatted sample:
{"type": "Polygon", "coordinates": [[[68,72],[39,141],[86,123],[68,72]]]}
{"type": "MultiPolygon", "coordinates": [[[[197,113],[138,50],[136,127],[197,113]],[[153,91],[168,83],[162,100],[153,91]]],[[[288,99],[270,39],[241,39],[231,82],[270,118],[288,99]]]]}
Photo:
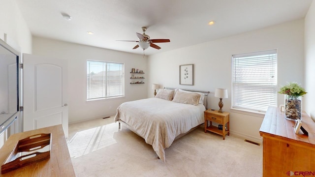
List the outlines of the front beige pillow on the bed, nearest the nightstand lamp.
{"type": "Polygon", "coordinates": [[[189,93],[183,91],[177,91],[175,94],[173,102],[198,105],[200,94],[198,93],[189,93]]]}

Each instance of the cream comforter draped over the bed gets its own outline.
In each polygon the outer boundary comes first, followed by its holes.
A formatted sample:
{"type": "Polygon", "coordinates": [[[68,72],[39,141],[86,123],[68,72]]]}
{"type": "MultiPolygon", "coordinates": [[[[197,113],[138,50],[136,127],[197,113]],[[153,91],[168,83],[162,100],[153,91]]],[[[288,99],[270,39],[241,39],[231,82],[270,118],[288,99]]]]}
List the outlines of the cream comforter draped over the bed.
{"type": "Polygon", "coordinates": [[[148,98],[121,104],[115,122],[122,120],[127,123],[165,161],[164,149],[170,147],[178,135],[202,124],[203,111],[205,107],[202,104],[194,106],[148,98]]]}

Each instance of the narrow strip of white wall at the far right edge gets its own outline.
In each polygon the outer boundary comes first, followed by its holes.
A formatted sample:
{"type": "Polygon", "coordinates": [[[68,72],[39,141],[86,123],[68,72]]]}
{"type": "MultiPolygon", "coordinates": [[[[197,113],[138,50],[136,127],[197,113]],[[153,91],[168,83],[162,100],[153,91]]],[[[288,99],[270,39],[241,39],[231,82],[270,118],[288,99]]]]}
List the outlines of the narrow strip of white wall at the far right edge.
{"type": "Polygon", "coordinates": [[[305,107],[308,115],[315,120],[315,1],[305,17],[305,107]]]}

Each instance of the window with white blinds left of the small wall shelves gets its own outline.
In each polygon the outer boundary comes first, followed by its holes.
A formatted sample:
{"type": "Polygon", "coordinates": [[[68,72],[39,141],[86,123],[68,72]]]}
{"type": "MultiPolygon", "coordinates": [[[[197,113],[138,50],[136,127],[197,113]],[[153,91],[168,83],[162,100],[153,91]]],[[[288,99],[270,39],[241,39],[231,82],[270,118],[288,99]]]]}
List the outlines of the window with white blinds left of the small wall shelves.
{"type": "Polygon", "coordinates": [[[124,63],[87,61],[87,100],[124,95],[124,63]]]}

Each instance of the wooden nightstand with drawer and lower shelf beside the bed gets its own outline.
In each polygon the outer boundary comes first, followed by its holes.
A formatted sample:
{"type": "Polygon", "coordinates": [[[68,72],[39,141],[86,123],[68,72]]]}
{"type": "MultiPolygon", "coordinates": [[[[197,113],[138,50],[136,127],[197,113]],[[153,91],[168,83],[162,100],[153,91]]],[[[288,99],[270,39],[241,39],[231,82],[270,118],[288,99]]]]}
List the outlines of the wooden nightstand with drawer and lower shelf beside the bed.
{"type": "Polygon", "coordinates": [[[219,135],[223,136],[223,140],[225,139],[225,135],[230,135],[230,123],[229,123],[229,117],[230,113],[224,112],[224,113],[218,113],[218,110],[212,111],[212,110],[206,110],[205,113],[205,133],[207,131],[211,131],[213,133],[217,133],[219,135]],[[208,120],[210,121],[210,125],[208,126],[208,120]],[[220,130],[217,126],[212,125],[212,122],[219,123],[222,126],[222,130],[220,130]],[[226,129],[225,129],[226,124],[226,129]]]}

